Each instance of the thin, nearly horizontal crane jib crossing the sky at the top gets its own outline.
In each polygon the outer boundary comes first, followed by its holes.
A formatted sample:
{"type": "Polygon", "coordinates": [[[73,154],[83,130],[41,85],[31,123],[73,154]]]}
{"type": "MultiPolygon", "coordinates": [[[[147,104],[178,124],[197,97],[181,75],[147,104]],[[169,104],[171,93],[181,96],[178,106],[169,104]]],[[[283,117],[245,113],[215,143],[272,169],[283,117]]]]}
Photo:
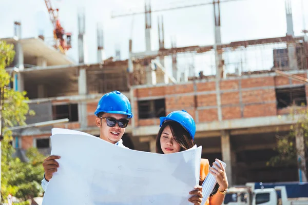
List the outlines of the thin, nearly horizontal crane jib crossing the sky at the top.
{"type": "MultiPolygon", "coordinates": [[[[136,15],[136,14],[144,14],[144,13],[147,13],[147,12],[151,13],[151,12],[176,10],[176,9],[182,9],[182,8],[197,7],[197,6],[204,6],[204,5],[216,4],[216,3],[233,2],[233,1],[239,1],[239,0],[213,0],[213,1],[208,1],[208,2],[205,2],[205,3],[199,3],[199,4],[172,6],[172,7],[167,7],[167,8],[150,9],[150,10],[146,10],[146,11],[144,11],[144,10],[143,11],[130,10],[129,12],[126,12],[126,13],[111,14],[111,18],[117,18],[117,17],[129,16],[129,15],[136,15]]],[[[114,13],[114,12],[112,12],[112,13],[114,13]]]]}

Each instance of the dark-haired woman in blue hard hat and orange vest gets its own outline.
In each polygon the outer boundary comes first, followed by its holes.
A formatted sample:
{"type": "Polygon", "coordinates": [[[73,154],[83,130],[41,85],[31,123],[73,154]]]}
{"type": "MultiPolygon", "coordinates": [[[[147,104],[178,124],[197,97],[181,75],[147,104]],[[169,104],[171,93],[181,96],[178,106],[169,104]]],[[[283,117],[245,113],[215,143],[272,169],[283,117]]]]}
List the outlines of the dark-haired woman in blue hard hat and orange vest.
{"type": "MultiPolygon", "coordinates": [[[[181,152],[194,147],[194,137],[196,133],[196,124],[194,119],[185,110],[174,111],[166,117],[160,118],[160,130],[156,139],[156,152],[160,154],[170,154],[181,152]]],[[[216,159],[216,161],[218,161],[216,159]]],[[[215,163],[209,168],[208,159],[201,159],[200,166],[200,182],[194,191],[189,194],[193,196],[189,201],[194,204],[201,204],[202,201],[202,182],[207,174],[213,174],[219,185],[214,188],[210,197],[206,199],[206,205],[222,204],[225,192],[228,188],[228,180],[226,172],[220,163],[219,168],[215,163]],[[215,169],[214,169],[215,168],[215,169]]]]}

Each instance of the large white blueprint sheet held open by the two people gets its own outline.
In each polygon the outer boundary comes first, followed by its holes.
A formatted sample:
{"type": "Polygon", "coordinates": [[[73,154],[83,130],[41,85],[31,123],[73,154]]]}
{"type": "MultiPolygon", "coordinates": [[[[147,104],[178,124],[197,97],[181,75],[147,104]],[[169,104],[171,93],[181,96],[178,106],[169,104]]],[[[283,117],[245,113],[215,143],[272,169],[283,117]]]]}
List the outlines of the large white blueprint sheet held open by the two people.
{"type": "Polygon", "coordinates": [[[201,147],[156,154],[114,146],[86,133],[53,129],[52,155],[60,167],[43,205],[191,204],[199,184],[201,147]],[[61,134],[65,133],[65,134],[61,134]]]}

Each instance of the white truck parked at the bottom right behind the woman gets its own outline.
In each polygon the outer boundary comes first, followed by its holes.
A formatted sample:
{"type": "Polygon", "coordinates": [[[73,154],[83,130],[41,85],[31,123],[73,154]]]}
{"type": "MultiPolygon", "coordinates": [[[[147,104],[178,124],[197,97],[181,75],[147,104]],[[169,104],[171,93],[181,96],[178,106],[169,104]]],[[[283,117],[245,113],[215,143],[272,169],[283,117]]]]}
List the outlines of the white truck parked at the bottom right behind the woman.
{"type": "MultiPolygon", "coordinates": [[[[308,195],[308,190],[302,190],[308,195]]],[[[308,205],[308,197],[290,198],[285,186],[255,189],[254,183],[228,189],[224,205],[308,205]]]]}

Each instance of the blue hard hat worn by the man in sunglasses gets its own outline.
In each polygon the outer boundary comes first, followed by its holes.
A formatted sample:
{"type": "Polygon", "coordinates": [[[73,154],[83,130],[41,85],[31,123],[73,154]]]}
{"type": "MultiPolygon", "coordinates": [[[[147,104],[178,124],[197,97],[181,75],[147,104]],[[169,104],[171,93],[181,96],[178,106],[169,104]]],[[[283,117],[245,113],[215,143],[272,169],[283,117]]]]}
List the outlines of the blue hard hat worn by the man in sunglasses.
{"type": "Polygon", "coordinates": [[[128,98],[117,90],[101,97],[94,114],[98,116],[100,112],[124,114],[127,115],[127,118],[133,116],[128,98]]]}

